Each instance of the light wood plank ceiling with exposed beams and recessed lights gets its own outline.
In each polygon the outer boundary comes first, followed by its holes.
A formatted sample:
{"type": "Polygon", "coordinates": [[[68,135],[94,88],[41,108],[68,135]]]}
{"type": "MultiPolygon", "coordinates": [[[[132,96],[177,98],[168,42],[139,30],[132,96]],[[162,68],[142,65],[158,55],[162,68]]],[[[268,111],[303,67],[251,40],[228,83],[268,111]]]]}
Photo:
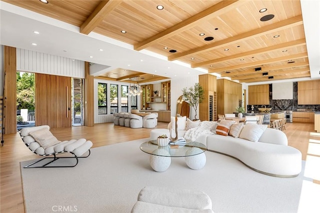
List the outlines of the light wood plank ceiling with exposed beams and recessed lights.
{"type": "Polygon", "coordinates": [[[299,0],[4,1],[239,82],[310,77],[299,0]]]}

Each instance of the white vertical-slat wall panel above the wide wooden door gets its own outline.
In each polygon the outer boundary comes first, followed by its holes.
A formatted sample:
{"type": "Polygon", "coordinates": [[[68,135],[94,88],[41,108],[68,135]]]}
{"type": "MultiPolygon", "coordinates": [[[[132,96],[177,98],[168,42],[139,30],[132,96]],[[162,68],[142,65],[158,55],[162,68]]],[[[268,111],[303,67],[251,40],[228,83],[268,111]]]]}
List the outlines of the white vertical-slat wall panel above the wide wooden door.
{"type": "Polygon", "coordinates": [[[25,49],[16,49],[16,70],[84,78],[84,62],[25,49]]]}

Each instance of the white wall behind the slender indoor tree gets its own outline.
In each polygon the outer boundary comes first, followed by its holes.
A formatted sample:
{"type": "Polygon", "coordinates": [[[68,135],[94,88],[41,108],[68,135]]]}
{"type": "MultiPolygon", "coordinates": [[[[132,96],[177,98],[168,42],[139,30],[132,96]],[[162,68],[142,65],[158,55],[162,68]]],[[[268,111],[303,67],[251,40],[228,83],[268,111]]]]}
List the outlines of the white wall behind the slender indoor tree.
{"type": "MultiPolygon", "coordinates": [[[[184,87],[192,87],[195,83],[199,82],[198,76],[190,76],[180,79],[171,79],[171,116],[175,116],[176,113],[176,101],[180,95],[182,95],[182,89],[184,87]]],[[[199,108],[197,109],[199,111],[199,108]]],[[[199,112],[196,113],[199,115],[199,112]]],[[[194,118],[194,110],[190,108],[190,118],[194,118]]],[[[199,117],[197,117],[199,118],[199,117]]]]}

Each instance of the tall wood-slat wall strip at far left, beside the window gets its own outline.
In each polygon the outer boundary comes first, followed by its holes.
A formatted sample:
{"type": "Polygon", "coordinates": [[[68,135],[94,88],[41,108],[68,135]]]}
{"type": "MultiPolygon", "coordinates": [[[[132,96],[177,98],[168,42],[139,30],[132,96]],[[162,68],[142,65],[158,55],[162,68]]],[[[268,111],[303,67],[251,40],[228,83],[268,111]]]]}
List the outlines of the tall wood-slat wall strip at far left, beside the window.
{"type": "Polygon", "coordinates": [[[4,134],[16,133],[16,48],[4,46],[4,134]]]}

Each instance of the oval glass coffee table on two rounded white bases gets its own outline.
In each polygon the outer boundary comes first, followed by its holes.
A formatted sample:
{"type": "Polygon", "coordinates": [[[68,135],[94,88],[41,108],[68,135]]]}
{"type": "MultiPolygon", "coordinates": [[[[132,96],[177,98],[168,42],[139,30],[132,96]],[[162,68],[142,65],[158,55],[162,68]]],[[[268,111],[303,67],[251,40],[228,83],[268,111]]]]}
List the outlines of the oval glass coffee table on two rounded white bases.
{"type": "Polygon", "coordinates": [[[147,141],[140,145],[140,150],[150,154],[149,162],[156,172],[166,171],[171,164],[171,157],[184,157],[186,165],[193,170],[204,167],[206,146],[202,143],[186,141],[185,145],[168,145],[160,147],[156,140],[147,141]]]}

